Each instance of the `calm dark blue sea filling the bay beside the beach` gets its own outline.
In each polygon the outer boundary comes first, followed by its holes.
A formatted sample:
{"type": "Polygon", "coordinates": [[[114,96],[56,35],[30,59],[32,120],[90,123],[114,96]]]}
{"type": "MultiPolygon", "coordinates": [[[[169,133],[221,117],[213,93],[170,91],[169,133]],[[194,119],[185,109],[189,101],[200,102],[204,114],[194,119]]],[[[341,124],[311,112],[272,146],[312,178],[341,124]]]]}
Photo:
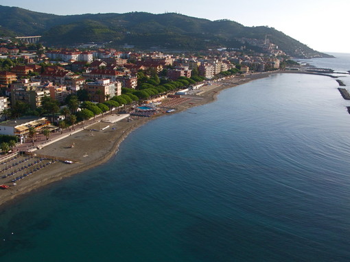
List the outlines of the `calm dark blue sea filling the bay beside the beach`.
{"type": "MultiPolygon", "coordinates": [[[[350,70],[332,55],[307,62],[350,70]]],[[[148,122],[102,166],[1,207],[0,261],[350,261],[338,87],[276,74],[148,122]]]]}

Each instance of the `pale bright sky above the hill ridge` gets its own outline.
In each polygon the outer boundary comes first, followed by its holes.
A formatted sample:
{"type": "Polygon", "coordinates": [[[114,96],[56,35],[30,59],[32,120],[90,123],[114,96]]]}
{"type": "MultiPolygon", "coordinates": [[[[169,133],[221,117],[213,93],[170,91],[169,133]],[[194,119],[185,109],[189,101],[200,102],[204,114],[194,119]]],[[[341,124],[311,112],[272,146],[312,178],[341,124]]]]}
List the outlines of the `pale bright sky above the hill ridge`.
{"type": "MultiPolygon", "coordinates": [[[[350,0],[0,0],[49,14],[177,12],[245,26],[267,25],[321,52],[350,53],[350,0]]],[[[0,18],[1,19],[1,18],[0,18]]]]}

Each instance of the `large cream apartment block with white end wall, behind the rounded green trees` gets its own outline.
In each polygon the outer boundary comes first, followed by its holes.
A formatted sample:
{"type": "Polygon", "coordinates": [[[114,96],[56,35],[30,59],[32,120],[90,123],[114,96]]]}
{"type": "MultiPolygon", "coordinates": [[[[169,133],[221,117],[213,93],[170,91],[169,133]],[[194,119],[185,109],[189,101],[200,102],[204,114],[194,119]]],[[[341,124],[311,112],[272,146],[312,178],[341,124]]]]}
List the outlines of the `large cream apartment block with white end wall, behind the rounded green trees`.
{"type": "Polygon", "coordinates": [[[95,82],[86,82],[84,89],[92,101],[103,103],[113,96],[121,95],[121,83],[110,79],[98,79],[95,82]]]}

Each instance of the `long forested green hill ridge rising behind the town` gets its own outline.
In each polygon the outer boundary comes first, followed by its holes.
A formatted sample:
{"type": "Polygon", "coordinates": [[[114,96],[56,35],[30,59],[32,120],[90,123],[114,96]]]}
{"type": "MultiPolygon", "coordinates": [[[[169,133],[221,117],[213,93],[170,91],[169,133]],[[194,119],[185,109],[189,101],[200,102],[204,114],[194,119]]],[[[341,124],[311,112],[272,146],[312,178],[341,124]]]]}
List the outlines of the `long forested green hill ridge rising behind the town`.
{"type": "MultiPolygon", "coordinates": [[[[82,14],[58,16],[0,5],[0,35],[42,35],[43,42],[56,47],[86,42],[110,42],[113,47],[132,44],[139,49],[161,47],[169,50],[240,48],[242,38],[264,40],[294,57],[326,57],[305,44],[270,27],[244,27],[234,21],[210,21],[182,14],[82,14]]],[[[245,43],[247,48],[261,47],[245,43]]]]}

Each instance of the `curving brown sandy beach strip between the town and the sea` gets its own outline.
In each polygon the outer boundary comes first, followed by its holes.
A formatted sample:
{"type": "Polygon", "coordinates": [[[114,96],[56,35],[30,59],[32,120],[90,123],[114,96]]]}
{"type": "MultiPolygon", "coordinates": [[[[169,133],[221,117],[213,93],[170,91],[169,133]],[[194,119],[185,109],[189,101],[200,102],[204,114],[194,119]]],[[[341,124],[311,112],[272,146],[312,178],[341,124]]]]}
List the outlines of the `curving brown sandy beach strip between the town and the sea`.
{"type": "MultiPolygon", "coordinates": [[[[232,88],[255,79],[268,77],[273,73],[281,72],[255,73],[246,75],[246,77],[233,77],[215,82],[211,86],[203,88],[200,95],[196,95],[192,99],[191,96],[187,96],[191,100],[176,105],[176,111],[170,114],[182,112],[189,107],[211,103],[216,99],[219,92],[226,88],[232,88]]],[[[106,120],[108,116],[115,118],[123,116],[122,114],[118,114],[118,112],[112,112],[111,115],[105,114],[103,118],[100,116],[95,118],[95,120],[86,121],[84,125],[77,125],[75,131],[69,131],[67,129],[63,134],[58,132],[51,135],[51,142],[46,142],[45,137],[39,137],[36,145],[43,144],[44,147],[33,153],[36,155],[58,157],[59,159],[69,159],[75,161],[75,163],[69,164],[63,161],[56,161],[56,163],[52,163],[50,166],[21,179],[16,186],[10,183],[9,178],[1,179],[0,183],[10,185],[10,188],[0,190],[0,205],[11,205],[14,200],[19,199],[19,196],[25,197],[28,192],[37,190],[49,183],[59,181],[67,176],[78,174],[105,163],[117,153],[119,144],[129,133],[154,118],[166,117],[166,115],[167,113],[163,111],[150,118],[133,117],[132,121],[128,121],[128,118],[114,123],[101,121],[103,119],[106,120]]],[[[19,149],[25,150],[27,147],[29,145],[24,144],[19,149]]]]}

